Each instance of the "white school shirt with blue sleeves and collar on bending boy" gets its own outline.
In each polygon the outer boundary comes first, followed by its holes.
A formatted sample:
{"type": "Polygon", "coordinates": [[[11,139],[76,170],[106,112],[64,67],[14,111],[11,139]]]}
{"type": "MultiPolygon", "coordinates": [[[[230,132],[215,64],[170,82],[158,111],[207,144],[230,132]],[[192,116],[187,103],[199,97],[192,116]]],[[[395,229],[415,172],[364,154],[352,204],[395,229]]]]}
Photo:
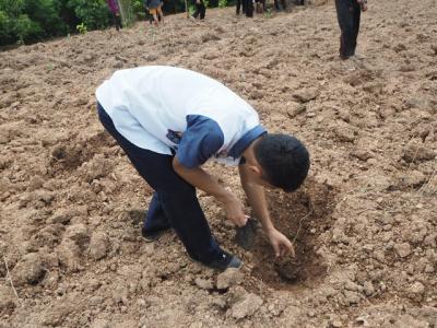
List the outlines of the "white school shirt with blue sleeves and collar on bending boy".
{"type": "Polygon", "coordinates": [[[139,148],[176,154],[186,167],[214,159],[231,165],[261,134],[258,114],[201,73],[167,66],[116,71],[96,97],[117,131],[139,148]]]}

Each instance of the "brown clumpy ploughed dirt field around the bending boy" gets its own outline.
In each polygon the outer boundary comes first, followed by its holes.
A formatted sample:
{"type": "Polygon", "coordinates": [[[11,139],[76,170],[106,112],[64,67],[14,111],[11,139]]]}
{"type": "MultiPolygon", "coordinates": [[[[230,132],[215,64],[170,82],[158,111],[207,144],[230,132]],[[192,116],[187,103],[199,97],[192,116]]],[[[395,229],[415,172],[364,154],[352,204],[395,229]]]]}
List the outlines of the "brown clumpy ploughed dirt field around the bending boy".
{"type": "MultiPolygon", "coordinates": [[[[0,327],[437,327],[436,1],[370,1],[365,57],[347,62],[332,3],[234,10],[0,52],[0,327]],[[269,191],[296,259],[274,260],[262,234],[238,247],[202,192],[241,272],[193,263],[173,233],[140,238],[152,190],[97,121],[94,91],[142,65],[218,79],[307,144],[306,185],[269,191]]],[[[243,197],[233,168],[208,169],[243,197]]]]}

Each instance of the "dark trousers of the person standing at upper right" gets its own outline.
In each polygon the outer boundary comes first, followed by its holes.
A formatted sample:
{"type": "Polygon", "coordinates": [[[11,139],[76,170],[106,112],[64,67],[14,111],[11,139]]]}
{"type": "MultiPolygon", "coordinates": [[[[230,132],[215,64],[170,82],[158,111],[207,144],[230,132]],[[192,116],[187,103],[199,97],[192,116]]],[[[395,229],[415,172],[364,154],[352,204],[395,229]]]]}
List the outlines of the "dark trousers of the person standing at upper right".
{"type": "Polygon", "coordinates": [[[341,30],[340,57],[347,59],[355,55],[362,9],[356,0],[335,0],[335,8],[341,30]]]}

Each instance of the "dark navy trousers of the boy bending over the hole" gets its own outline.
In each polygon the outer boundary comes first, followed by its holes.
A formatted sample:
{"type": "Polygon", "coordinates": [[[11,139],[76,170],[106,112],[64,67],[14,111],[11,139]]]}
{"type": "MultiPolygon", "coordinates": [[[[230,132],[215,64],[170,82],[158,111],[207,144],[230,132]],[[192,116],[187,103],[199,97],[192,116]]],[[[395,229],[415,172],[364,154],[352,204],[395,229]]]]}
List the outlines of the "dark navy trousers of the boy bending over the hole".
{"type": "Polygon", "coordinates": [[[97,112],[102,125],[116,139],[138,173],[155,190],[144,226],[154,229],[155,224],[163,223],[164,216],[194,260],[210,263],[221,257],[223,250],[211,234],[196,188],[173,169],[173,156],[134,145],[116,130],[113,119],[101,104],[97,104],[97,112]]]}

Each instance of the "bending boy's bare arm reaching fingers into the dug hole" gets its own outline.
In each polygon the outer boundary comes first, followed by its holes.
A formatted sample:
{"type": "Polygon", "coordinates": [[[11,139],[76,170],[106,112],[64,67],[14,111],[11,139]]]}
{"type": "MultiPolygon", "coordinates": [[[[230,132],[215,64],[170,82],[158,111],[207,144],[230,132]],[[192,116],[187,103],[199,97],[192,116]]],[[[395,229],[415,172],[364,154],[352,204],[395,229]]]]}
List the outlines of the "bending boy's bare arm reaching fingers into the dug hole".
{"type": "Polygon", "coordinates": [[[269,237],[270,243],[274,249],[275,256],[285,256],[291,254],[295,256],[294,247],[292,242],[288,241],[280,231],[277,231],[269,214],[264,188],[260,185],[251,183],[248,178],[247,166],[245,164],[238,166],[239,176],[241,180],[243,189],[249,200],[249,203],[253,210],[255,216],[261,221],[262,227],[269,237]]]}

